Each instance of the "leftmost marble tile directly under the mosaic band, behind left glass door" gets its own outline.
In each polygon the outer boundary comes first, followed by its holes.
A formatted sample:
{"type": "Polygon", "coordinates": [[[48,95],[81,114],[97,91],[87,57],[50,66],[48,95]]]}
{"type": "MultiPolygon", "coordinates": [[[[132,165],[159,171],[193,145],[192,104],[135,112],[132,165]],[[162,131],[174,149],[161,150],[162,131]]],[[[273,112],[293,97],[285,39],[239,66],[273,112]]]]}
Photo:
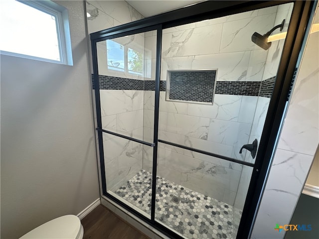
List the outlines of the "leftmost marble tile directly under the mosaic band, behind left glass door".
{"type": "Polygon", "coordinates": [[[100,90],[101,115],[111,116],[133,109],[132,91],[100,90]]]}

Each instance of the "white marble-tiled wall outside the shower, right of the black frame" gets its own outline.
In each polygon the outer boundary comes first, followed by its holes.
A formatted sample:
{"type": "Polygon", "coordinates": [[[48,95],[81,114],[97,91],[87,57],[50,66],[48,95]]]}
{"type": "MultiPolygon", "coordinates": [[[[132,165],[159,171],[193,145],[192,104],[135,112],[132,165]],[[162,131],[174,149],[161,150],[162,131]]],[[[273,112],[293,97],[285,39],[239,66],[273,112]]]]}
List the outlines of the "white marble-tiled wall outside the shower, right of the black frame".
{"type": "MultiPolygon", "coordinates": [[[[314,23],[319,23],[319,11],[314,23]]],[[[310,34],[274,155],[252,238],[283,239],[319,143],[319,32],[310,34]]],[[[303,222],[301,222],[303,223],[303,222]]]]}

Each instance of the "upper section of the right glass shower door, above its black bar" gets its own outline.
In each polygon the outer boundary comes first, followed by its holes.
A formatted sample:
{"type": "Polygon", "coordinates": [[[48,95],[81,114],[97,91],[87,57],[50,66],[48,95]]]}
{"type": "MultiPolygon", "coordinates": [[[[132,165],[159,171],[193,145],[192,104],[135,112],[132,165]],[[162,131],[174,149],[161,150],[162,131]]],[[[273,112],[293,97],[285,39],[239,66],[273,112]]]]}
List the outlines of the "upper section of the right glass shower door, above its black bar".
{"type": "MultiPolygon", "coordinates": [[[[160,80],[166,87],[160,92],[159,138],[254,162],[246,148],[242,153],[240,149],[252,144],[255,138],[260,141],[285,39],[272,42],[264,50],[260,46],[269,44],[259,38],[254,38],[254,43],[252,35],[264,35],[284,19],[282,32],[287,31],[293,5],[287,3],[164,29],[160,80]],[[214,84],[203,83],[207,80],[202,74],[205,71],[216,71],[210,81],[215,82],[215,89],[214,84]],[[179,102],[169,99],[171,72],[181,79],[173,89],[173,100],[179,102]],[[185,72],[195,75],[187,80],[182,75],[185,72]],[[202,87],[207,90],[191,90],[202,87]],[[212,102],[205,100],[208,92],[213,93],[213,97],[209,96],[212,102]]],[[[277,33],[279,28],[271,34],[277,33]]],[[[169,145],[164,147],[180,151],[169,145]]]]}

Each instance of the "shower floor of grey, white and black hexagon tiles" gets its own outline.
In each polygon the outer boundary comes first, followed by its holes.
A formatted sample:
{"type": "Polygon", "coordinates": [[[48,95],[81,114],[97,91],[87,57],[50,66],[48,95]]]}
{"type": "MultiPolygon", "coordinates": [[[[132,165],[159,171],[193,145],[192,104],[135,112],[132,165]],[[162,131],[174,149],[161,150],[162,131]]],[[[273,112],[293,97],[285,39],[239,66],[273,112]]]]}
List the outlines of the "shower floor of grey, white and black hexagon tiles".
{"type": "MultiPolygon", "coordinates": [[[[141,170],[113,196],[151,218],[152,174],[141,170]]],[[[157,222],[186,239],[235,238],[242,211],[196,191],[157,177],[157,222]],[[178,203],[174,200],[177,197],[178,203]]],[[[177,201],[177,200],[176,200],[177,201]]]]}

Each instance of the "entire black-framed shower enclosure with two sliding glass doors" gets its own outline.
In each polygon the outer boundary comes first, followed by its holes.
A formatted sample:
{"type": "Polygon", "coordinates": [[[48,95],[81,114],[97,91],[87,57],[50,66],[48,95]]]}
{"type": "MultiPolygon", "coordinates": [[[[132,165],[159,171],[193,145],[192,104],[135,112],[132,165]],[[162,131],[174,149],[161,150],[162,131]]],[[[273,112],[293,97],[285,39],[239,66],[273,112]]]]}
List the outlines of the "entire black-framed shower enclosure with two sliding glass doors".
{"type": "Polygon", "coordinates": [[[247,238],[311,6],[208,1],[92,33],[103,194],[173,238],[247,238]]]}

